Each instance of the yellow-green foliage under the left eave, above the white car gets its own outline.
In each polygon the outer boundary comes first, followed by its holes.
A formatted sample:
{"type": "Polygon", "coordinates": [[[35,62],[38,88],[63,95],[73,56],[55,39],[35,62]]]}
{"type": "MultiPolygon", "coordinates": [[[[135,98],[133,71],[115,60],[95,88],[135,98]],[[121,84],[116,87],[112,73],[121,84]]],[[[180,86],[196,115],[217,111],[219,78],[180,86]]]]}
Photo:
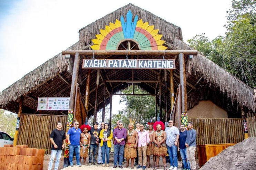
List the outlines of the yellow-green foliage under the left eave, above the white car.
{"type": "Polygon", "coordinates": [[[7,132],[11,137],[14,137],[17,115],[4,112],[4,110],[0,109],[0,130],[7,132]]]}

